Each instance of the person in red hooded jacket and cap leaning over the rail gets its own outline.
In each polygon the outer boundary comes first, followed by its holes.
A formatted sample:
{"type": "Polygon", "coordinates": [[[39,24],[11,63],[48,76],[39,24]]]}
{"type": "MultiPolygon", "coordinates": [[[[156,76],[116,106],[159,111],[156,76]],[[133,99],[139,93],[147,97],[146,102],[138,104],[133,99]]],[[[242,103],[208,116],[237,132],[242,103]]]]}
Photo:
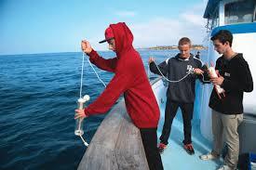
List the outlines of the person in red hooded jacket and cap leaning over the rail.
{"type": "Polygon", "coordinates": [[[124,94],[128,115],[141,131],[141,139],[151,170],[163,169],[157,150],[156,129],[159,108],[147,78],[140,54],[132,46],[133,35],[124,22],[111,24],[105,31],[109,49],[115,51],[114,59],[103,59],[88,41],[82,41],[82,50],[101,70],[115,72],[101,96],[83,110],[75,110],[75,119],[109,111],[120,95],[124,94]]]}

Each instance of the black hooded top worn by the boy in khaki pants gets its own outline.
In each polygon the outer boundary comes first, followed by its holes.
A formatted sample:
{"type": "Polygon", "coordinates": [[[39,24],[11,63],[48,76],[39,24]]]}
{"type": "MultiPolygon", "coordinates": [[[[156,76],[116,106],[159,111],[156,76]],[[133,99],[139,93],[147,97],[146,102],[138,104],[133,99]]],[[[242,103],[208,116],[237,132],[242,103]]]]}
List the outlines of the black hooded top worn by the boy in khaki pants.
{"type": "Polygon", "coordinates": [[[209,107],[223,114],[243,113],[243,93],[253,90],[253,82],[249,65],[238,53],[233,59],[227,60],[223,56],[216,61],[216,70],[219,70],[224,81],[222,88],[225,97],[220,99],[213,89],[209,98],[209,107]]]}

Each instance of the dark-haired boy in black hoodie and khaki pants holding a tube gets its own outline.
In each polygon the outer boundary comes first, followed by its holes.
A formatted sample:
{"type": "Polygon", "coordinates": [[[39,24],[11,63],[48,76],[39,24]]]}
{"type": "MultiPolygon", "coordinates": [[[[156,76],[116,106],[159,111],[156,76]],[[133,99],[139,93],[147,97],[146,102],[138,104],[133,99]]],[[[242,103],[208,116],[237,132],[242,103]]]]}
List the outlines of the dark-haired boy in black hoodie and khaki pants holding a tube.
{"type": "Polygon", "coordinates": [[[215,70],[219,77],[210,78],[213,85],[221,85],[224,89],[222,98],[213,89],[209,98],[212,109],[213,149],[202,160],[212,160],[220,157],[223,141],[227,145],[227,155],[224,164],[219,168],[236,169],[239,154],[239,136],[237,127],[243,121],[243,93],[253,90],[253,82],[249,65],[241,53],[232,49],[233,35],[221,30],[211,37],[215,50],[222,54],[217,59],[215,70]]]}

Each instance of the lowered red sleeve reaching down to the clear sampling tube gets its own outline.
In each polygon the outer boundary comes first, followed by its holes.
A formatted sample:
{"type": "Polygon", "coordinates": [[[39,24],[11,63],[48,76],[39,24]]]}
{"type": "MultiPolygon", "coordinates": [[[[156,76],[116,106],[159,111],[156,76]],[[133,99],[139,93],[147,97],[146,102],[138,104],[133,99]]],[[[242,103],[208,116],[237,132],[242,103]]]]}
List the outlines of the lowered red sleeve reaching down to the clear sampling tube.
{"type": "Polygon", "coordinates": [[[119,96],[128,89],[128,85],[130,85],[131,82],[131,73],[115,73],[115,76],[109,85],[107,85],[104,91],[101,93],[101,96],[97,98],[93,103],[88,105],[88,107],[85,109],[85,114],[93,115],[109,111],[119,96]]]}

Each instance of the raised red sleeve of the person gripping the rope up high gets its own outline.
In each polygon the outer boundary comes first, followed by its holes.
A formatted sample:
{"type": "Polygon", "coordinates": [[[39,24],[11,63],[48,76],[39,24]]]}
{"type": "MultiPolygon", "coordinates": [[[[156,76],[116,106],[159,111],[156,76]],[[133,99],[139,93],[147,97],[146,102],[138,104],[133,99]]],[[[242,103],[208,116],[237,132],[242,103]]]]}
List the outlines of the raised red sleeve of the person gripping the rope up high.
{"type": "Polygon", "coordinates": [[[114,59],[103,59],[99,56],[99,54],[92,50],[89,54],[89,60],[91,63],[96,65],[98,68],[108,72],[115,72],[115,66],[117,62],[117,58],[114,59]]]}

